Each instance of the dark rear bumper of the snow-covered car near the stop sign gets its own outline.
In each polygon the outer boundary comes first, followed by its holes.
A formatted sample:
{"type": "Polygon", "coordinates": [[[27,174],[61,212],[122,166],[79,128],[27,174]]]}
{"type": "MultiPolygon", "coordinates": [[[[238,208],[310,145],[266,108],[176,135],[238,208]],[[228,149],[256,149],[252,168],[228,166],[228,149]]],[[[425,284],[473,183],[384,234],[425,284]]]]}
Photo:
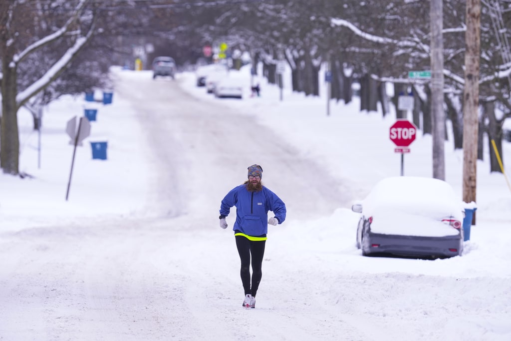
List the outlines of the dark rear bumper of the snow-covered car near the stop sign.
{"type": "Polygon", "coordinates": [[[461,255],[463,237],[421,237],[384,235],[369,232],[363,238],[365,255],[393,254],[398,256],[453,257],[461,255]]]}

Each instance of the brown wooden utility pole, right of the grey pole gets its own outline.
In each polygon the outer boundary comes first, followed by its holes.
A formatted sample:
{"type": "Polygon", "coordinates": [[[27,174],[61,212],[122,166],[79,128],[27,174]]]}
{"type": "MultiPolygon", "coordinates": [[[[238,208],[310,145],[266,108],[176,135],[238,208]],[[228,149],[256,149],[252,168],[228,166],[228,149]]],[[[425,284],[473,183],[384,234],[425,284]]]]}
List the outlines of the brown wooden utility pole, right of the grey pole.
{"type": "MultiPolygon", "coordinates": [[[[467,0],[463,89],[463,201],[476,202],[481,3],[467,0]]],[[[475,216],[472,221],[475,223],[475,216]]]]}

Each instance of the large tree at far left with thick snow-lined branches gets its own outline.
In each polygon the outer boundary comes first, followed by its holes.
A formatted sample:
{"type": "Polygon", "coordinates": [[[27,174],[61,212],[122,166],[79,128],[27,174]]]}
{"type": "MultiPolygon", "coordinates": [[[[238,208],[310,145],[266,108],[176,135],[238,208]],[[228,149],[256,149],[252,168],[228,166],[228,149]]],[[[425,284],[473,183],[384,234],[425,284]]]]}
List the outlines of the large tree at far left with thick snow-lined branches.
{"type": "Polygon", "coordinates": [[[95,13],[87,3],[88,0],[0,2],[0,167],[4,173],[18,174],[18,109],[57,79],[94,33],[95,13]],[[31,58],[50,46],[53,59],[41,55],[31,58]],[[20,77],[25,62],[30,63],[29,69],[34,72],[29,75],[33,78],[20,77]]]}

